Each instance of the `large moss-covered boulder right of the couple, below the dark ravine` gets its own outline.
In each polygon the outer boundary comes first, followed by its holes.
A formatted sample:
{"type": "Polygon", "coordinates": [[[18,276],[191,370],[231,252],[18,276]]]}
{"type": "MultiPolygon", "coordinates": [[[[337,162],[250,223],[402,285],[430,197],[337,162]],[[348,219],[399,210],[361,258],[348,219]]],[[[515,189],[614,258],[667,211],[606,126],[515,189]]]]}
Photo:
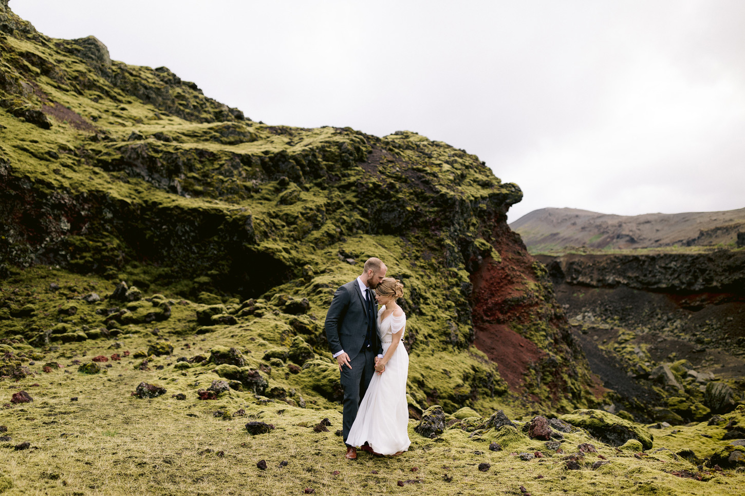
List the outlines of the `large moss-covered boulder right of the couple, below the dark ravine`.
{"type": "Polygon", "coordinates": [[[638,439],[644,449],[652,448],[653,437],[646,428],[603,410],[574,410],[559,419],[586,429],[592,437],[609,445],[618,446],[629,439],[638,439]]]}

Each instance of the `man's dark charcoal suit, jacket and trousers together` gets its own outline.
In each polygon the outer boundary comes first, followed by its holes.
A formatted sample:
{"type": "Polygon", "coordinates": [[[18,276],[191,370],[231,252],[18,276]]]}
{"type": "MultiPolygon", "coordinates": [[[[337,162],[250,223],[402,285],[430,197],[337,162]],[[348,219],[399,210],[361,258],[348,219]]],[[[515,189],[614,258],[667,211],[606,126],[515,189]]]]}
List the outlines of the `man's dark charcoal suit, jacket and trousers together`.
{"type": "Polygon", "coordinates": [[[341,369],[341,387],[344,390],[343,409],[343,438],[349,435],[349,429],[355,422],[360,400],[364,397],[370,379],[375,373],[375,356],[383,353],[383,347],[378,338],[378,303],[371,290],[373,298],[373,318],[368,319],[368,304],[365,294],[360,289],[357,279],[341,286],[336,290],[334,298],[326,314],[326,339],[329,341],[331,352],[340,351],[349,355],[350,369],[344,365],[341,369]],[[372,321],[370,329],[370,347],[365,346],[368,322],[372,321]]]}

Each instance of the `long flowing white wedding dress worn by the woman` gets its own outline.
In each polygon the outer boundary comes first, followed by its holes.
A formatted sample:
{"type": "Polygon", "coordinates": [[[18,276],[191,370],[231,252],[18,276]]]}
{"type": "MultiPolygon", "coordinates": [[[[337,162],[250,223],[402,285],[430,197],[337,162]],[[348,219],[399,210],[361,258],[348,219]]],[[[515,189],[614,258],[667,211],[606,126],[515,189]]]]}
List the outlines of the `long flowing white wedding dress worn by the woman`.
{"type": "MultiPolygon", "coordinates": [[[[406,325],[406,315],[391,314],[383,321],[378,310],[378,336],[383,344],[383,355],[391,345],[394,332],[406,325]]],[[[402,334],[403,336],[403,334],[402,334]]],[[[396,351],[385,366],[385,371],[370,379],[355,422],[349,430],[346,443],[361,446],[367,441],[379,454],[395,454],[407,451],[411,444],[408,435],[409,410],[406,403],[406,379],[409,373],[409,355],[404,344],[399,342],[396,351]]]]}

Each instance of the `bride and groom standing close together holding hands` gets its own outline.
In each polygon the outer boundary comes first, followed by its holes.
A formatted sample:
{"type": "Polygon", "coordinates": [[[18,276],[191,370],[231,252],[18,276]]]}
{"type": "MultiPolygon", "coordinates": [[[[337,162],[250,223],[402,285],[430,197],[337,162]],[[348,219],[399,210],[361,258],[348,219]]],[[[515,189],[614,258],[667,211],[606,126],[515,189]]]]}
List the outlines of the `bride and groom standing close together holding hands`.
{"type": "Polygon", "coordinates": [[[361,276],[337,289],[326,315],[326,338],[344,390],[342,432],[349,460],[357,458],[357,446],[396,455],[410,445],[406,315],[396,303],[404,286],[385,277],[386,271],[381,260],[368,259],[361,276]]]}

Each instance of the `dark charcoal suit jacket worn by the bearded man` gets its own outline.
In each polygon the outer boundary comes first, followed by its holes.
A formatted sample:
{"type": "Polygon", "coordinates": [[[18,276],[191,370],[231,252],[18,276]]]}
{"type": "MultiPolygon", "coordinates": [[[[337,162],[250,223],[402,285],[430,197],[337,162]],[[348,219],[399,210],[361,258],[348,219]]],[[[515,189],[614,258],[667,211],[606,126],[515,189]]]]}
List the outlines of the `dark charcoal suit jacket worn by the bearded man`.
{"type": "MultiPolygon", "coordinates": [[[[375,292],[373,292],[373,298],[375,292]]],[[[383,353],[383,347],[378,338],[378,302],[375,304],[375,329],[370,340],[370,347],[376,354],[383,353]]],[[[367,335],[367,302],[360,290],[357,280],[340,286],[334,294],[334,299],[326,314],[326,339],[329,341],[332,353],[344,350],[349,360],[355,358],[362,350],[367,335]]]]}

